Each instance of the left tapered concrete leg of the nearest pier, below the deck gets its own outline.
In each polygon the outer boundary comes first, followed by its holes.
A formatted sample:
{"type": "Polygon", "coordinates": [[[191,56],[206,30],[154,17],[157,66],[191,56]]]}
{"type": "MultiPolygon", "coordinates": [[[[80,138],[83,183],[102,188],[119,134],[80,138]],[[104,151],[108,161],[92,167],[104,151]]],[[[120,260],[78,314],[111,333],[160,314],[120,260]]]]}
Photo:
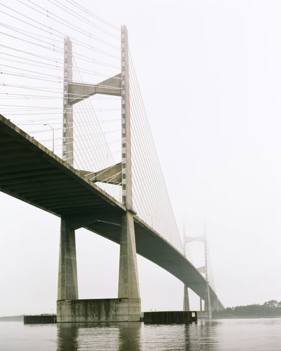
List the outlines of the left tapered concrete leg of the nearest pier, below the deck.
{"type": "Polygon", "coordinates": [[[60,219],[57,300],[77,300],[78,282],[75,231],[70,229],[67,217],[60,219]]]}

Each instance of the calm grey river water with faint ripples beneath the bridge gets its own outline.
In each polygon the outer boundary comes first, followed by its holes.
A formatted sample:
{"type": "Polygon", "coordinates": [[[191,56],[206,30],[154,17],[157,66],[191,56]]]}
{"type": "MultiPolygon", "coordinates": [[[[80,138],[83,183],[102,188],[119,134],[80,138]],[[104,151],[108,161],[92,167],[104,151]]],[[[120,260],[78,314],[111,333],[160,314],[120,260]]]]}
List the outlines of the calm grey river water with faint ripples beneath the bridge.
{"type": "Polygon", "coordinates": [[[0,322],[0,351],[281,351],[281,318],[143,323],[0,322]]]}

